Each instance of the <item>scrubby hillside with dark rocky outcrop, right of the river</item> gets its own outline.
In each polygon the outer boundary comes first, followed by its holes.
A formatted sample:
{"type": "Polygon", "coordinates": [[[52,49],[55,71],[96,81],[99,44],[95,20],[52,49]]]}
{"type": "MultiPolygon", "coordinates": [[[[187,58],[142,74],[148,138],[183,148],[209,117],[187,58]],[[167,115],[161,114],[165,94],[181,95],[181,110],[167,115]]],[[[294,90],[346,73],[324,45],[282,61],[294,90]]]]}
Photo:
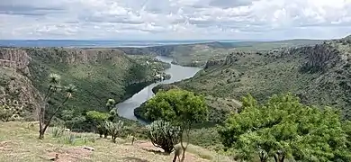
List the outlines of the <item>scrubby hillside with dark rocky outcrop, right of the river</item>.
{"type": "Polygon", "coordinates": [[[268,51],[238,51],[209,60],[180,87],[216,97],[239,99],[247,93],[260,101],[292,92],[302,102],[329,105],[351,119],[351,40],[268,51]]]}

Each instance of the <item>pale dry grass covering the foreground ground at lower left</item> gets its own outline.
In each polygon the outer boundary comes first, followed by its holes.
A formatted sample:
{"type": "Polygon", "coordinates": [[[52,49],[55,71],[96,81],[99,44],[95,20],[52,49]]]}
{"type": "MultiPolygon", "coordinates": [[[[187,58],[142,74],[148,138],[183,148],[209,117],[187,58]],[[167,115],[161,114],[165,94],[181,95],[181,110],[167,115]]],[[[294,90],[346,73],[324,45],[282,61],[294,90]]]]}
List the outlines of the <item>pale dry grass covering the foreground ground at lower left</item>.
{"type": "MultiPolygon", "coordinates": [[[[96,134],[74,133],[76,140],[69,144],[64,141],[68,134],[66,132],[63,137],[52,138],[48,130],[45,139],[39,140],[37,128],[28,128],[26,122],[0,122],[0,161],[48,161],[55,154],[58,154],[58,161],[164,162],[173,159],[172,154],[164,155],[148,141],[139,140],[130,145],[130,141],[118,139],[114,144],[110,139],[99,139],[96,134]],[[85,139],[93,137],[96,137],[95,141],[85,139]],[[93,147],[94,151],[85,150],[83,146],[93,147]]],[[[188,149],[185,161],[218,161],[214,160],[216,154],[209,150],[193,145],[188,149]]],[[[220,161],[227,160],[223,158],[220,161]]]]}

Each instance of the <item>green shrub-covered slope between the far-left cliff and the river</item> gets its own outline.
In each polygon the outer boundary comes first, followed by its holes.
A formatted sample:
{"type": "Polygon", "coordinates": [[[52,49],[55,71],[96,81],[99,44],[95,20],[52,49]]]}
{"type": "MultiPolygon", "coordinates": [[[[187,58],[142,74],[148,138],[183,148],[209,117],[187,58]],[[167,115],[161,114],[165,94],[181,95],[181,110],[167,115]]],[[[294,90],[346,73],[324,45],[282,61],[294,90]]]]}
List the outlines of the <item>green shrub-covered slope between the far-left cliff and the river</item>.
{"type": "MultiPolygon", "coordinates": [[[[91,127],[85,125],[86,112],[109,112],[105,101],[112,99],[120,103],[158,79],[152,66],[141,65],[139,60],[129,58],[118,49],[15,50],[24,50],[31,57],[28,77],[42,94],[48,86],[43,80],[50,72],[61,76],[63,85],[76,85],[79,95],[72,97],[65,111],[59,112],[54,119],[54,122],[66,123],[72,130],[88,131],[91,127]]],[[[59,102],[56,97],[52,100],[59,102]]]]}

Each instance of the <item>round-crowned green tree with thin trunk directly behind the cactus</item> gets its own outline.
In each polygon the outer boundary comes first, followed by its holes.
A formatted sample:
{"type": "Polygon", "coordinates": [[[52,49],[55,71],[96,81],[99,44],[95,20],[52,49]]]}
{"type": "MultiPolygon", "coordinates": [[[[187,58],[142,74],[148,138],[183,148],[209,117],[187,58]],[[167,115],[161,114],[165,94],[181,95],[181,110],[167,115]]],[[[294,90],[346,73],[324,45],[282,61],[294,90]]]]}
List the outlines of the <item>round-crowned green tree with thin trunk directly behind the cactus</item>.
{"type": "Polygon", "coordinates": [[[145,105],[149,121],[164,120],[180,128],[180,143],[183,148],[181,161],[189,144],[189,133],[194,123],[207,120],[208,109],[201,95],[181,89],[159,91],[145,105]],[[185,138],[186,136],[186,144],[185,138]]]}

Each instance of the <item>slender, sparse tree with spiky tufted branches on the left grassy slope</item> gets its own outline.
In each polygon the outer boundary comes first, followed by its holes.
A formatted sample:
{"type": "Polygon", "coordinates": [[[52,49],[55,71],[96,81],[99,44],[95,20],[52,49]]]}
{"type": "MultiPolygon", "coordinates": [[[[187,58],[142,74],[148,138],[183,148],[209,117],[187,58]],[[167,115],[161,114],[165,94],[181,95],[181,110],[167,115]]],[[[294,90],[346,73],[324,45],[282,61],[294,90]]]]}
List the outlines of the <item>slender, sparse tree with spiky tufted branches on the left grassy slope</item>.
{"type": "Polygon", "coordinates": [[[67,86],[62,86],[60,85],[60,76],[57,74],[49,75],[49,86],[43,98],[43,105],[41,105],[39,108],[39,139],[44,139],[45,131],[48,129],[53,117],[58,113],[58,111],[61,110],[65,103],[67,103],[68,99],[72,97],[72,94],[75,91],[75,85],[70,84],[67,86]],[[63,98],[58,104],[54,104],[52,101],[50,101],[51,97],[55,94],[61,94],[60,97],[63,98]],[[49,107],[56,108],[53,109],[53,112],[48,114],[49,107]],[[48,118],[46,115],[48,115],[48,118]]]}

